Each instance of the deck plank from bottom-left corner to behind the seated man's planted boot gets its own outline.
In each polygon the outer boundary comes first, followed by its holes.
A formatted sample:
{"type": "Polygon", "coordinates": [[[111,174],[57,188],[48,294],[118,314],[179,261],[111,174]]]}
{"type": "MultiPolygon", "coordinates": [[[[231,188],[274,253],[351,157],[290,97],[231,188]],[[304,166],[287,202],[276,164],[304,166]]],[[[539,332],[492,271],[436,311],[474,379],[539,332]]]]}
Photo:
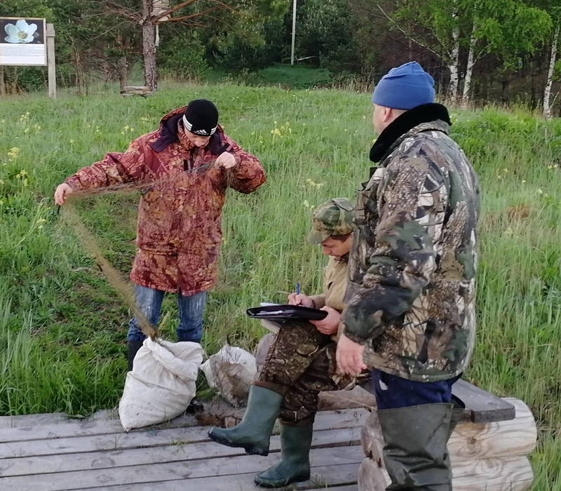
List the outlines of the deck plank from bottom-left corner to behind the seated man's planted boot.
{"type": "MultiPolygon", "coordinates": [[[[58,491],[72,489],[72,487],[69,487],[69,483],[79,483],[79,487],[76,487],[76,489],[83,490],[100,485],[184,479],[186,480],[184,481],[184,489],[194,489],[189,483],[191,479],[229,476],[238,473],[257,473],[278,462],[278,458],[278,454],[271,454],[267,457],[241,455],[217,457],[215,459],[193,459],[189,462],[156,462],[89,471],[43,473],[33,476],[1,478],[0,485],[2,489],[15,491],[29,490],[29,485],[32,483],[34,491],[58,491]]],[[[355,472],[358,471],[358,465],[362,459],[363,452],[358,445],[346,448],[316,448],[310,452],[312,466],[353,464],[355,472]]],[[[346,481],[346,483],[349,483],[349,481],[346,481]]]]}

